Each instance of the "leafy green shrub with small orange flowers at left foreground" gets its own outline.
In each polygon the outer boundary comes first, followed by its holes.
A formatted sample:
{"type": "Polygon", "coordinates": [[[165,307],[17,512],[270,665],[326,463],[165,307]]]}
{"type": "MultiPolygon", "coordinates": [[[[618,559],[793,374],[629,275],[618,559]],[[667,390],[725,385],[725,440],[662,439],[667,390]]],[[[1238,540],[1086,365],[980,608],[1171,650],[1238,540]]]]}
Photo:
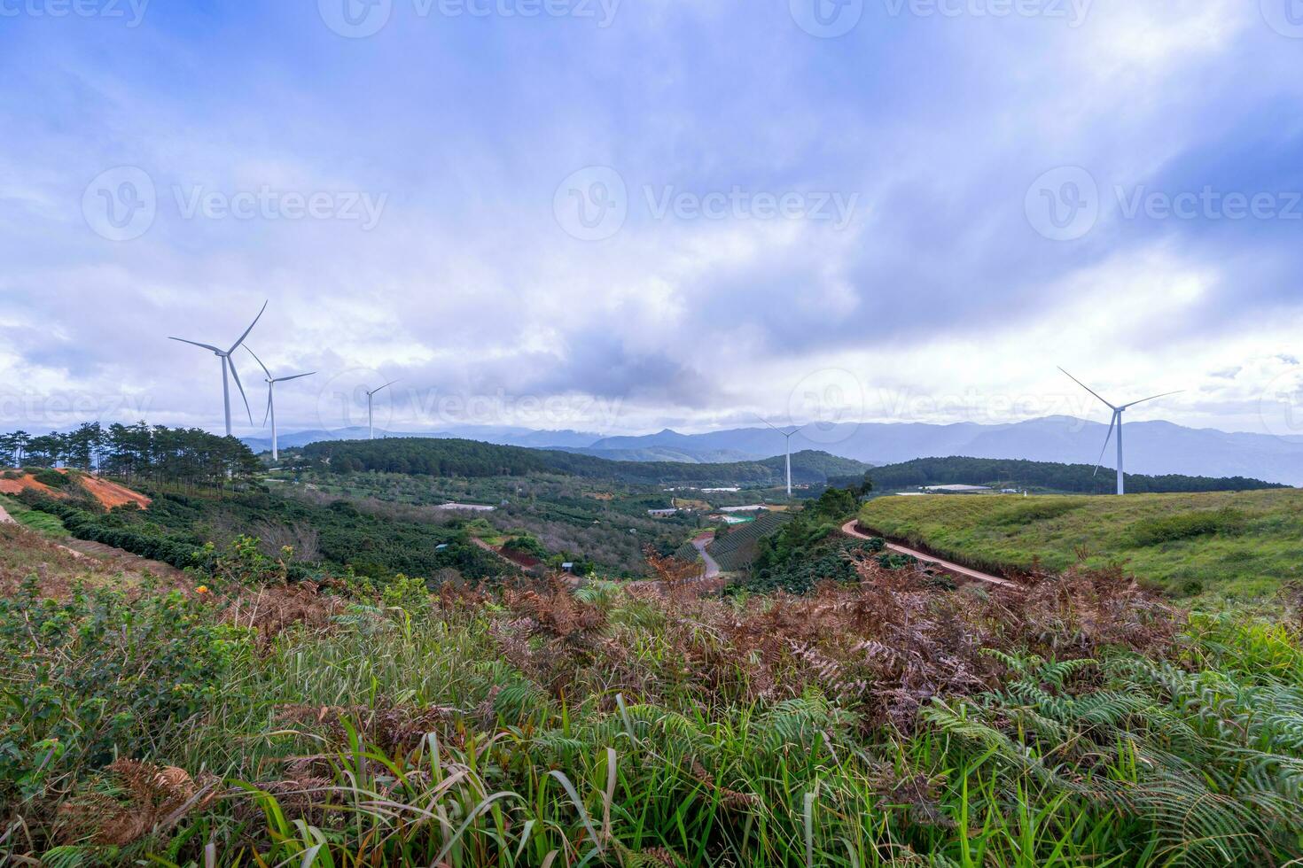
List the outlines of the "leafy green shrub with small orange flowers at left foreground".
{"type": "Polygon", "coordinates": [[[0,804],[39,809],[223,696],[245,639],[206,605],[202,595],[108,588],[59,603],[39,599],[34,579],[0,600],[0,804]]]}

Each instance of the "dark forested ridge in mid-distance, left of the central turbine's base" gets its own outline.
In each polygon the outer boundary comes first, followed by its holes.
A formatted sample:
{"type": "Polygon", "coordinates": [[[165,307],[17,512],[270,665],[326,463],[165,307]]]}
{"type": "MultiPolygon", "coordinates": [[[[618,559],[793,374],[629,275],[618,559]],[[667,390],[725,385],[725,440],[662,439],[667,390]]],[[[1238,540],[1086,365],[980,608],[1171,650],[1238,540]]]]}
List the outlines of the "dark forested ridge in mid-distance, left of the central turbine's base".
{"type": "MultiPolygon", "coordinates": [[[[631,484],[697,483],[777,485],[786,479],[782,455],[726,465],[627,462],[550,449],[498,446],[473,440],[401,437],[347,440],[305,446],[302,461],[334,472],[380,471],[417,476],[526,476],[562,474],[631,484]]],[[[792,455],[792,480],[825,484],[830,476],[863,476],[868,465],[825,452],[792,455]]]]}

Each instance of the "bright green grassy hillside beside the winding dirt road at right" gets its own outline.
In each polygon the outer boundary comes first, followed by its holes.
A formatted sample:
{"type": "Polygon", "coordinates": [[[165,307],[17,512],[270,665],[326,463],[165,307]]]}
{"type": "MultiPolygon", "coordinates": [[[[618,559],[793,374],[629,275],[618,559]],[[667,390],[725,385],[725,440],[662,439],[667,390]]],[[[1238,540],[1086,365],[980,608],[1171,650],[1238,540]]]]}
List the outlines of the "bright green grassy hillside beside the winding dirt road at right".
{"type": "Polygon", "coordinates": [[[985,569],[1124,563],[1177,596],[1303,579],[1303,491],[1117,497],[881,497],[860,521],[985,569]]]}

